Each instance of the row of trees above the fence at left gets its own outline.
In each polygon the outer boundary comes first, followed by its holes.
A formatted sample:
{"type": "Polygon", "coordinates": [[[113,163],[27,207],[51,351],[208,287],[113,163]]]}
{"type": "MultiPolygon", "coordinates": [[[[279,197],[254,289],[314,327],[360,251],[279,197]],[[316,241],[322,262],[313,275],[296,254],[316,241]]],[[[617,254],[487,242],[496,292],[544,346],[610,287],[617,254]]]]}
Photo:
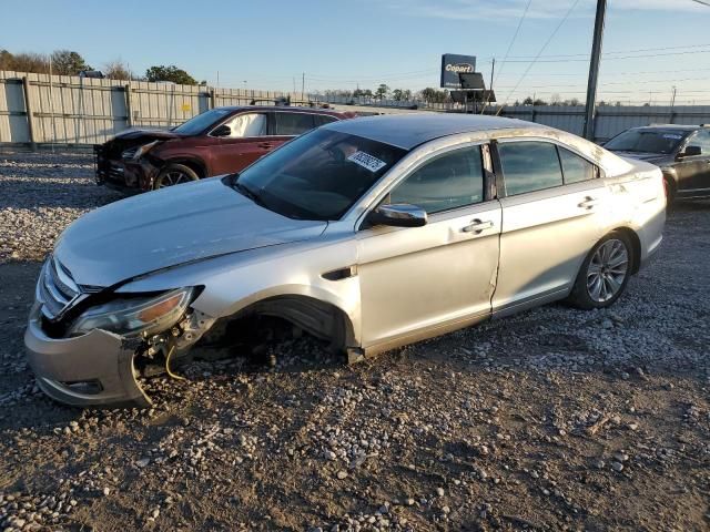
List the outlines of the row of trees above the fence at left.
{"type": "Polygon", "coordinates": [[[197,83],[185,70],[171,65],[154,65],[145,70],[144,75],[132,72],[124,61],[116,59],[94,69],[85,59],[72,50],[55,50],[51,54],[22,52],[11,53],[0,50],[0,70],[32,72],[38,74],[79,75],[81,72],[100,70],[110,80],[168,81],[181,85],[206,85],[206,81],[197,83]]]}

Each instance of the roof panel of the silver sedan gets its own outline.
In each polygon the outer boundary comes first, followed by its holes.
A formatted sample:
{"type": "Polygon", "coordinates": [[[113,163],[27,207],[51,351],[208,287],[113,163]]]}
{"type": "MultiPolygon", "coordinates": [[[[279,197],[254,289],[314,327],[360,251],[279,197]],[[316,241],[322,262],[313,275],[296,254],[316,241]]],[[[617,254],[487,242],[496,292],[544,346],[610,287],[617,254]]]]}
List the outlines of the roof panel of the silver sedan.
{"type": "Polygon", "coordinates": [[[480,114],[417,112],[363,116],[356,120],[334,122],[324,127],[412,150],[425,142],[457,133],[532,129],[539,127],[539,125],[521,120],[480,114]]]}

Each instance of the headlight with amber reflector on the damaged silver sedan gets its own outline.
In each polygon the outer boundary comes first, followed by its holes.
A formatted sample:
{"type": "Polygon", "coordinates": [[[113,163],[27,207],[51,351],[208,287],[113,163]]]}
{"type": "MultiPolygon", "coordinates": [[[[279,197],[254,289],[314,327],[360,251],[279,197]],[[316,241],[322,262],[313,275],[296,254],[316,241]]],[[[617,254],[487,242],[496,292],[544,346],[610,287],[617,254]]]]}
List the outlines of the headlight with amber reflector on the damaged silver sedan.
{"type": "Polygon", "coordinates": [[[180,288],[160,296],[115,299],[88,309],[79,316],[69,336],[103,329],[123,336],[161,332],[182,317],[192,298],[192,288],[180,288]]]}

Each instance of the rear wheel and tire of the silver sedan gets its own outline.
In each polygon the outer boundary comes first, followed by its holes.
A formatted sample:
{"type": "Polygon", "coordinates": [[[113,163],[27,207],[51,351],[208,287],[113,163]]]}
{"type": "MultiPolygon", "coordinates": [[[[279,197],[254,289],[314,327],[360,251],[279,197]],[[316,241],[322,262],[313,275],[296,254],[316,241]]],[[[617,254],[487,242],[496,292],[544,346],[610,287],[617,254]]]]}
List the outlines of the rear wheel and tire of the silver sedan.
{"type": "Polygon", "coordinates": [[[629,237],[609,233],[585,258],[567,301],[585,310],[610,307],[626,290],[633,260],[629,237]]]}

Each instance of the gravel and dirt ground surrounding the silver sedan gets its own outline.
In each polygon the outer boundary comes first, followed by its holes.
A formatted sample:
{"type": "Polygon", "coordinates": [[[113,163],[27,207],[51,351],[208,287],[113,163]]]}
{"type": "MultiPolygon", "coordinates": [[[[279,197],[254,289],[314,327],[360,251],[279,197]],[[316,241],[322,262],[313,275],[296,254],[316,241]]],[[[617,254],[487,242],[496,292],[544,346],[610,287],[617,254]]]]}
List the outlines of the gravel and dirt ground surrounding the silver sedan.
{"type": "Polygon", "coordinates": [[[0,155],[0,530],[710,528],[708,203],[678,206],[609,310],[354,367],[295,336],[94,411],[39,392],[21,336],[38,260],[119,196],[71,154],[0,155]]]}

